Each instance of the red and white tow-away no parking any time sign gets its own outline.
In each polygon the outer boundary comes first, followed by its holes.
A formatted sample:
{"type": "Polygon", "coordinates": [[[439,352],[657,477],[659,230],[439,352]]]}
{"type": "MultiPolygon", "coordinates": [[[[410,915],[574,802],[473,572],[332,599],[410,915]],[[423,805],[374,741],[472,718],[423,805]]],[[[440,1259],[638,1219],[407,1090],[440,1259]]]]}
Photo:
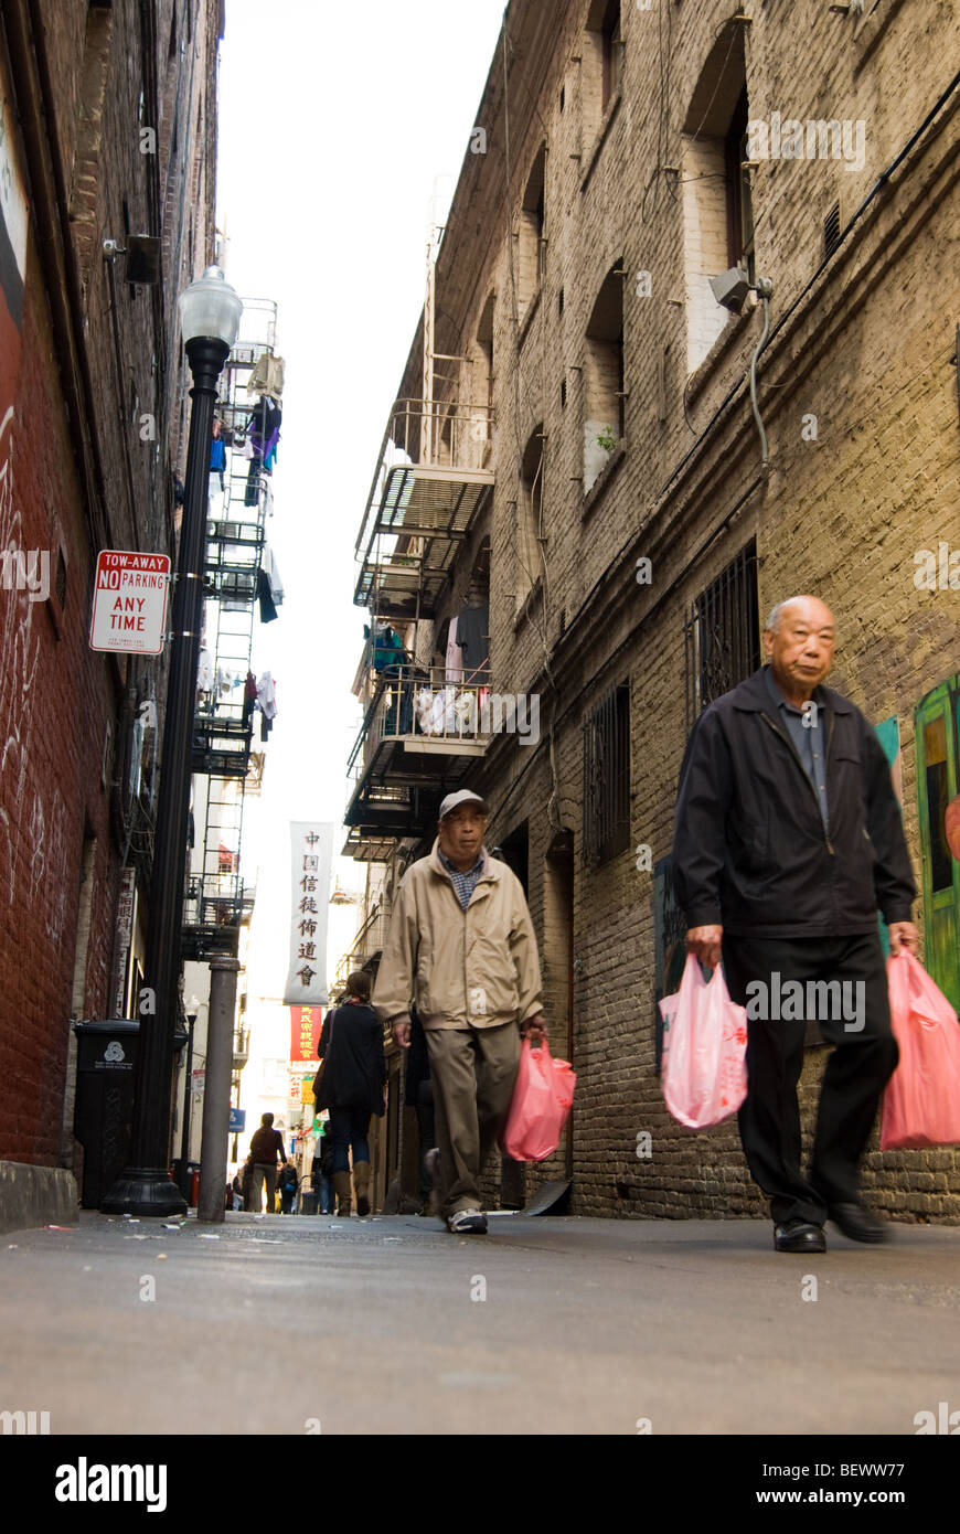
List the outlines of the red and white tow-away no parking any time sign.
{"type": "Polygon", "coordinates": [[[159,655],[164,647],[169,554],[101,549],[97,557],[90,649],[159,655]]]}

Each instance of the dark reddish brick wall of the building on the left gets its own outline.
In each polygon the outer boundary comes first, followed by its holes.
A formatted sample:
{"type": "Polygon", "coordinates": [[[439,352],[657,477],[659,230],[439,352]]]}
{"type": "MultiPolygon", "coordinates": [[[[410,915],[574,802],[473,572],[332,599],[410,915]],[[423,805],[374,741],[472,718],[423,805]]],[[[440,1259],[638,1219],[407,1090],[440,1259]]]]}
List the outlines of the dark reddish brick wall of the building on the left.
{"type": "MultiPolygon", "coordinates": [[[[182,0],[175,9],[179,34],[182,0]]],[[[150,46],[166,61],[170,0],[156,12],[166,34],[150,46]]],[[[215,109],[209,86],[218,8],[190,0],[190,12],[193,40],[175,74],[195,64],[184,118],[193,153],[207,143],[195,123],[201,86],[205,107],[215,109]]],[[[150,224],[150,178],[176,189],[187,166],[182,149],[159,166],[141,155],[152,101],[149,38],[135,0],[110,9],[43,0],[40,15],[32,32],[21,5],[5,8],[8,86],[31,146],[29,153],[20,146],[31,221],[0,537],[5,548],[49,551],[61,600],[0,591],[0,1160],[54,1164],[72,1157],[71,1144],[61,1144],[64,1104],[71,1120],[71,1016],[103,1017],[110,1006],[124,689],[144,684],[150,670],[163,687],[156,663],[118,663],[89,649],[100,546],[94,529],[106,525],[118,548],[164,549],[173,505],[166,419],[178,367],[172,293],[179,279],[167,273],[163,288],[132,290],[120,258],[112,295],[101,242],[123,244],[127,230],[161,233],[150,224]],[[25,38],[32,41],[25,46],[25,38]],[[61,245],[41,239],[44,219],[61,245]],[[153,437],[141,436],[144,413],[158,417],[153,437]]],[[[199,267],[213,252],[212,176],[205,167],[195,204],[199,267]]],[[[176,258],[181,244],[176,236],[176,258]]],[[[173,265],[176,272],[179,259],[173,265]]]]}

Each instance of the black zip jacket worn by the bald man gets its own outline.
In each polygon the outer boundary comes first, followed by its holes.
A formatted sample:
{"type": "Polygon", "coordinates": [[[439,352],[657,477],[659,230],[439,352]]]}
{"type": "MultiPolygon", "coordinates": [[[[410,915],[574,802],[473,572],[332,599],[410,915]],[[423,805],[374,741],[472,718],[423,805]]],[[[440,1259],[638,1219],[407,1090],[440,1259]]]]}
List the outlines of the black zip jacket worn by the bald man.
{"type": "Polygon", "coordinates": [[[778,719],[764,672],[695,724],[679,775],[673,865],[687,927],[834,937],[908,922],[916,885],[883,749],[859,709],[817,687],[827,750],[817,793],[778,719]]]}

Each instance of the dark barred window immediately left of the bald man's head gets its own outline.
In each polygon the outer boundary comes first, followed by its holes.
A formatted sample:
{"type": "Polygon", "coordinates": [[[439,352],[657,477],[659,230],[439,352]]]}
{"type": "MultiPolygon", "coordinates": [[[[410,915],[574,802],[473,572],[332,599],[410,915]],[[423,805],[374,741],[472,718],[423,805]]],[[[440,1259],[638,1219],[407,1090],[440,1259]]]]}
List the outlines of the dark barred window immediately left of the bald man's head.
{"type": "Polygon", "coordinates": [[[753,538],[690,606],[684,649],[690,730],[715,698],[762,664],[753,538]]]}

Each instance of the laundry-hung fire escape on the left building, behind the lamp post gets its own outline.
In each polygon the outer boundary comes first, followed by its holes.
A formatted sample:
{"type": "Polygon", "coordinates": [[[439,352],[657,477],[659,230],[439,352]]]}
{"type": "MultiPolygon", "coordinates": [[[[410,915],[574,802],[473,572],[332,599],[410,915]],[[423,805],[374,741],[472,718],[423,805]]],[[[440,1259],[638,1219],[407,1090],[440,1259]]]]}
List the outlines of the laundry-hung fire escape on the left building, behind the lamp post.
{"type": "Polygon", "coordinates": [[[255,890],[241,874],[244,799],[259,793],[264,770],[264,753],[252,749],[247,676],[273,494],[262,459],[245,457],[244,449],[258,407],[247,384],[255,368],[258,377],[268,373],[276,304],[245,299],[242,324],[221,376],[216,416],[225,445],[224,491],[212,477],[204,560],[209,660],[205,673],[201,661],[193,719],[195,845],[202,845],[202,858],[192,859],[182,923],[184,959],[199,962],[215,954],[236,957],[241,925],[250,920],[255,890]],[[258,339],[244,339],[250,334],[258,339]]]}

